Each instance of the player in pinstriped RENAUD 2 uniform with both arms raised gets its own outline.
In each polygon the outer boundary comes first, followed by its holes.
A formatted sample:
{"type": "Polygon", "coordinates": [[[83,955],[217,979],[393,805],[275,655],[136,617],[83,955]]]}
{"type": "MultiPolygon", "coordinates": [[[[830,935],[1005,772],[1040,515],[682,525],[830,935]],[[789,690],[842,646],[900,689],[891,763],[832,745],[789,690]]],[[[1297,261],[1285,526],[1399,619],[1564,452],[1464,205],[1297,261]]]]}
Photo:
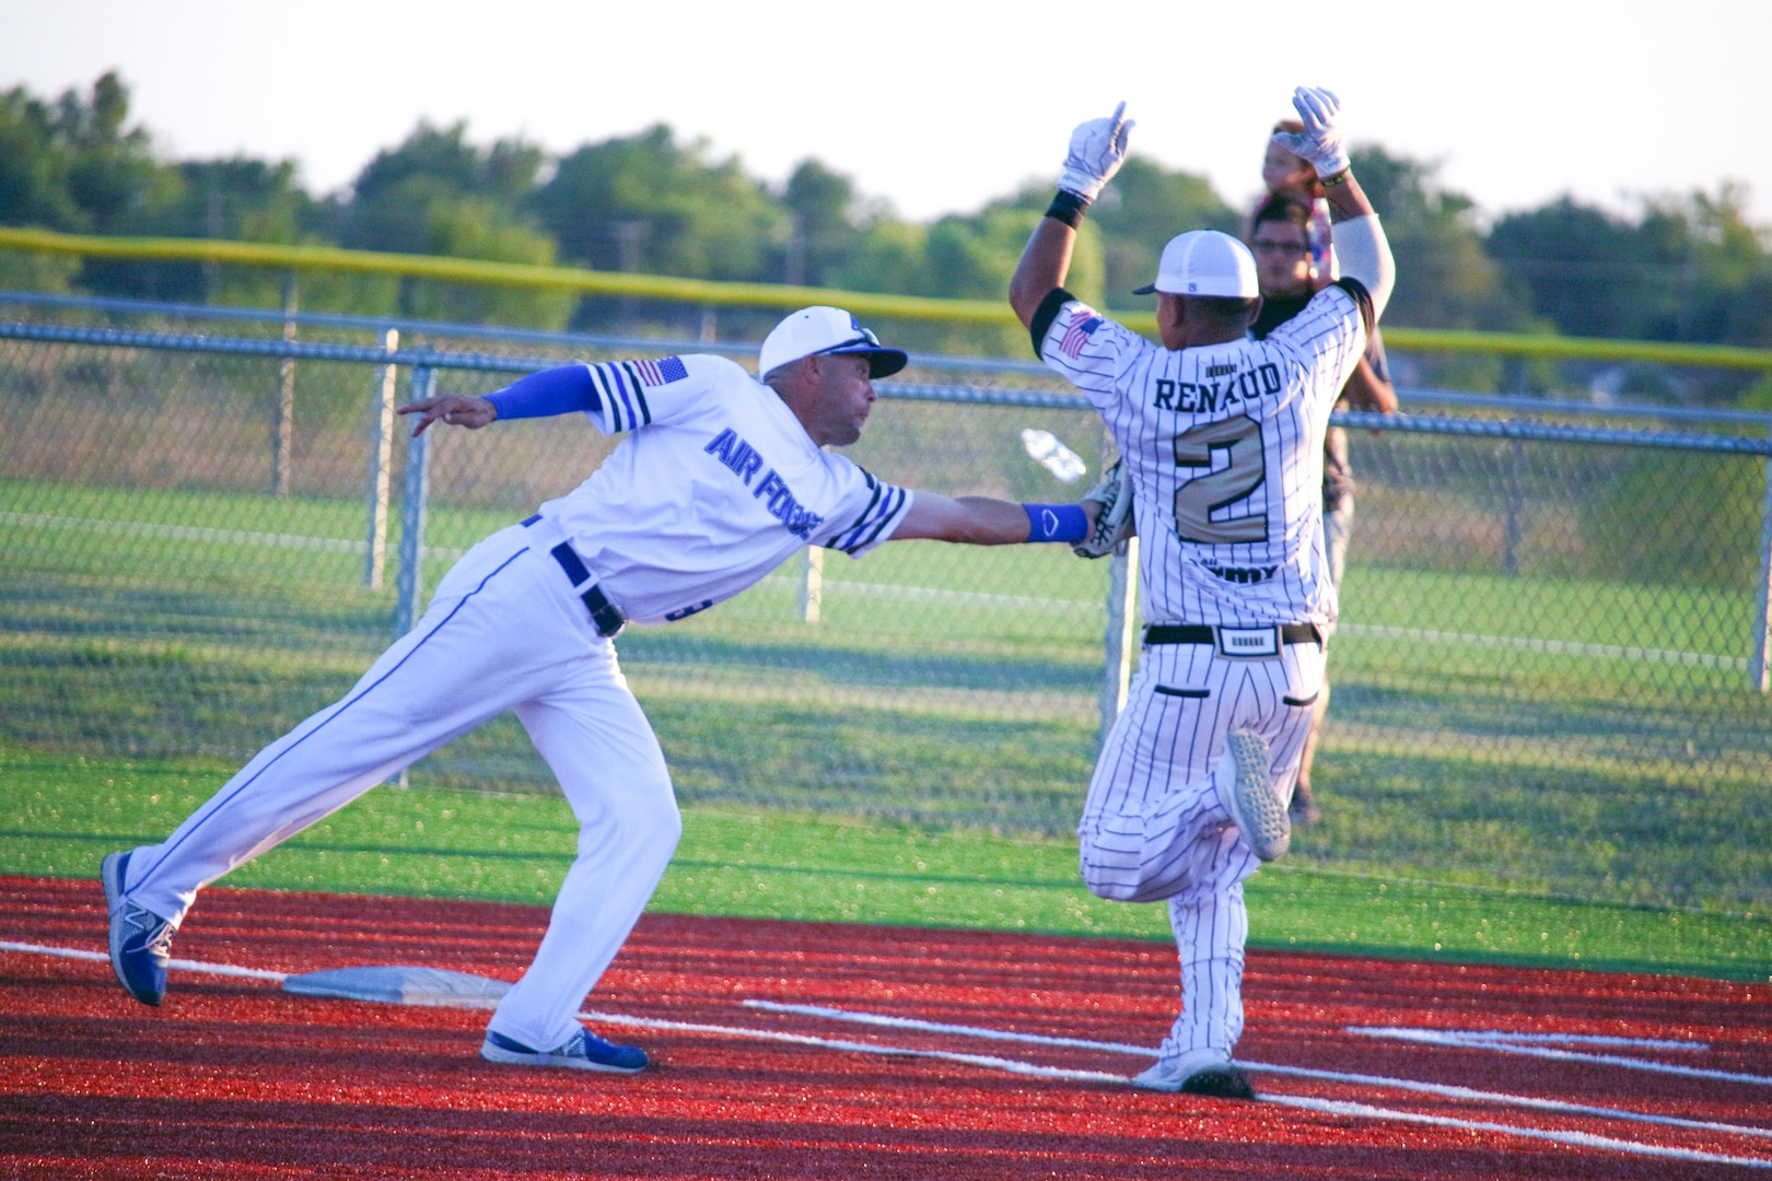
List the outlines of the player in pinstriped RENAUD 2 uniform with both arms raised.
{"type": "MultiPolygon", "coordinates": [[[[1260,310],[1255,260],[1226,234],[1173,239],[1157,280],[1139,289],[1159,296],[1162,345],[1063,289],[1076,227],[1125,158],[1125,104],[1074,133],[1060,191],[1010,283],[1035,351],[1102,413],[1139,535],[1143,655],[1077,834],[1090,891],[1170,903],[1182,1013],[1136,1078],[1159,1091],[1251,1096],[1232,1061],[1249,926],[1242,880],[1290,843],[1286,795],[1336,611],[1320,521],[1324,432],[1393,276],[1348,172],[1338,101],[1301,89],[1294,104],[1306,131],[1288,147],[1325,177],[1345,278],[1267,340],[1247,336],[1260,310]]],[[[1104,529],[1113,515],[1100,513],[1104,529]]],[[[1111,540],[1097,533],[1079,552],[1111,540]]]]}

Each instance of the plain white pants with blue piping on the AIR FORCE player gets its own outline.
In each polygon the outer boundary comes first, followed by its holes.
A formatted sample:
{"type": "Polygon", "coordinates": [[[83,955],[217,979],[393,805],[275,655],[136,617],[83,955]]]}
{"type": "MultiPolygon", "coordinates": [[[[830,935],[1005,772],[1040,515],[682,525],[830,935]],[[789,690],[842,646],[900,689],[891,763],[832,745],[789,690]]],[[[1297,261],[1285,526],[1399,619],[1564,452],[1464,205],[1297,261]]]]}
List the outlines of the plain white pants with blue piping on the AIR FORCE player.
{"type": "Polygon", "coordinates": [[[510,526],[468,551],[429,611],[338,703],[260,751],[163,845],[129,859],[128,898],[183,921],[197,891],[402,767],[516,710],[579,822],[548,933],[491,1027],[553,1048],[640,919],[682,834],[664,754],[548,552],[510,526]]]}

